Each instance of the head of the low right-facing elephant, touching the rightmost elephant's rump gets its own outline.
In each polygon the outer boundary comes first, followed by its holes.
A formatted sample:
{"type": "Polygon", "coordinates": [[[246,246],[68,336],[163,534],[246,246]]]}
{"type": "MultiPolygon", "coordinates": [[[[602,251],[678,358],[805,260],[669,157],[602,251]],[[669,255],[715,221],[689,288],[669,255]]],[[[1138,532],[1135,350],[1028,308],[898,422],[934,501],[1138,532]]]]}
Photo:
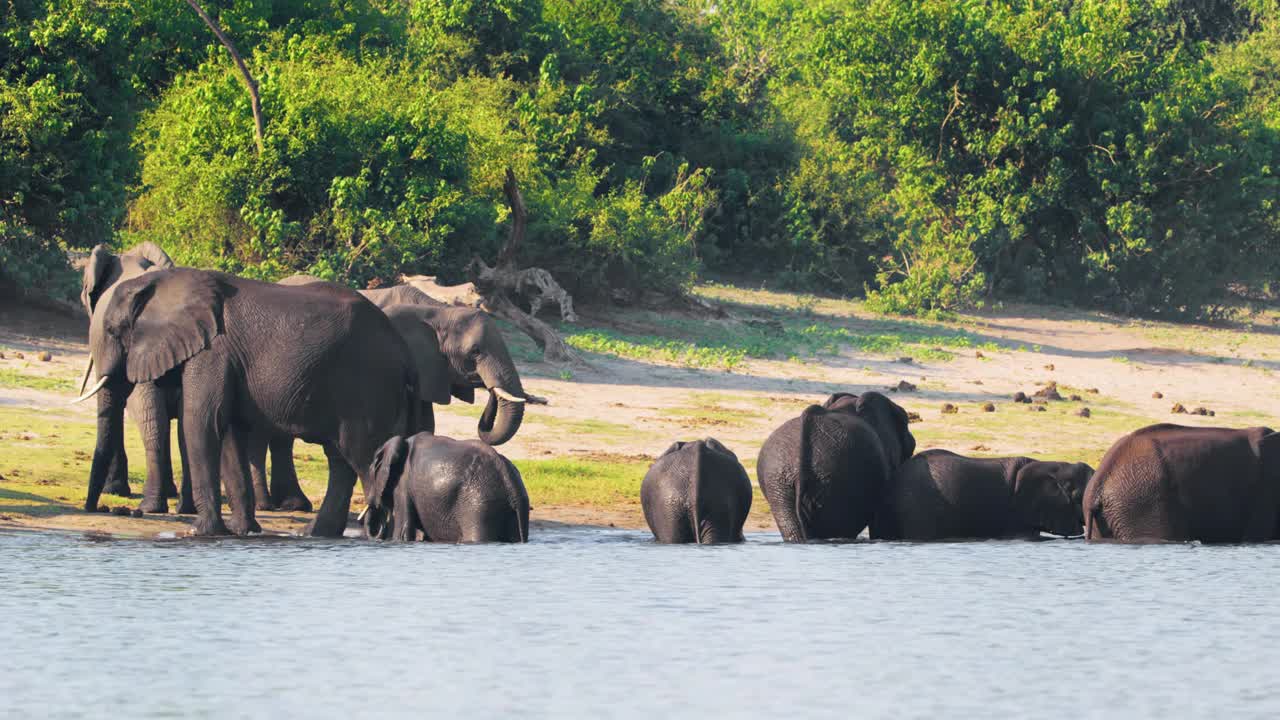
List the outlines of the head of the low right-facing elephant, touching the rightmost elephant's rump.
{"type": "Polygon", "coordinates": [[[1027,521],[1055,536],[1084,532],[1084,488],[1093,468],[1084,462],[1033,460],[1014,477],[1014,506],[1027,521]]]}

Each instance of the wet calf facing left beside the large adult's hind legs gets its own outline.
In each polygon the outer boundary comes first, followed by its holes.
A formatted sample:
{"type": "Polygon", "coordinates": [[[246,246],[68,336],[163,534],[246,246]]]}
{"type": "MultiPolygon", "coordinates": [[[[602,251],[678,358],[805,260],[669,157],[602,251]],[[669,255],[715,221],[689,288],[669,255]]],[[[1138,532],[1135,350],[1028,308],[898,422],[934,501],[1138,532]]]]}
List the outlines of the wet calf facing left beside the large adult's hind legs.
{"type": "Polygon", "coordinates": [[[365,487],[371,538],[527,542],[529,495],[509,460],[480,441],[431,433],[387,441],[365,487]]]}

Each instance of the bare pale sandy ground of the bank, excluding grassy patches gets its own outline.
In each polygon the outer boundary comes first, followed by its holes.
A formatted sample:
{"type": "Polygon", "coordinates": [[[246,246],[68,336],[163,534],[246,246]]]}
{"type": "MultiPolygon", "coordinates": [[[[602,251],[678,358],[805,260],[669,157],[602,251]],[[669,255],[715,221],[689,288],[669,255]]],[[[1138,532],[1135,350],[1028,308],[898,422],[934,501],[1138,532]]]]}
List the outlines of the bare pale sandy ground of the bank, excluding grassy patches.
{"type": "MultiPolygon", "coordinates": [[[[829,306],[828,306],[829,305],[829,306]]],[[[815,322],[858,327],[864,315],[855,304],[818,307],[815,322]]],[[[918,387],[893,393],[918,413],[911,429],[919,448],[947,447],[980,455],[1036,455],[1097,462],[1124,432],[1156,421],[1199,425],[1280,424],[1275,398],[1280,368],[1280,327],[1272,320],[1210,328],[1133,322],[1098,313],[1015,306],[997,314],[968,316],[963,327],[1001,350],[956,350],[945,361],[904,361],[845,350],[804,361],[749,360],[736,372],[690,369],[618,357],[590,356],[589,366],[566,372],[541,363],[521,366],[529,392],[550,400],[530,407],[520,434],[502,447],[515,460],[563,456],[652,459],[676,439],[713,436],[733,448],[749,470],[764,438],[806,404],[835,391],[884,391],[908,380],[918,387]],[[980,357],[979,357],[980,355],[980,357]],[[1053,402],[1046,413],[1011,402],[1018,391],[1032,393],[1055,380],[1079,402],[1053,402]],[[1094,391],[1096,392],[1088,392],[1094,391]],[[1153,397],[1160,393],[1161,397],[1153,397]],[[983,413],[984,402],[996,405],[983,413]],[[1175,402],[1203,406],[1215,416],[1175,415],[1175,402]],[[943,404],[957,407],[943,414],[943,404]],[[1082,418],[1080,407],[1093,416],[1082,418]]],[[[27,374],[76,378],[87,360],[82,319],[22,307],[0,309],[0,347],[5,368],[27,374]],[[14,351],[26,355],[15,359],[14,351]],[[35,359],[47,351],[49,361],[35,359]]],[[[0,384],[0,427],[10,407],[56,409],[92,419],[92,407],[68,406],[74,393],[0,384]]],[[[438,432],[474,437],[477,407],[438,409],[438,432]]],[[[131,430],[132,427],[131,427],[131,430]]],[[[91,448],[86,448],[91,450],[91,448]]],[[[9,459],[0,459],[8,461],[9,459]]],[[[87,475],[87,461],[84,474],[87,475]]],[[[3,491],[0,484],[0,491],[3,491]]],[[[575,524],[641,523],[632,510],[543,506],[538,521],[575,524]]],[[[762,519],[763,518],[763,519],[762,519]]],[[[264,527],[296,532],[306,515],[262,514],[264,527]]],[[[132,520],[101,515],[59,515],[68,529],[154,534],[174,532],[173,518],[132,520]]],[[[50,527],[50,519],[0,518],[5,524],[50,527]]],[[[767,516],[753,529],[768,529],[767,516]]]]}

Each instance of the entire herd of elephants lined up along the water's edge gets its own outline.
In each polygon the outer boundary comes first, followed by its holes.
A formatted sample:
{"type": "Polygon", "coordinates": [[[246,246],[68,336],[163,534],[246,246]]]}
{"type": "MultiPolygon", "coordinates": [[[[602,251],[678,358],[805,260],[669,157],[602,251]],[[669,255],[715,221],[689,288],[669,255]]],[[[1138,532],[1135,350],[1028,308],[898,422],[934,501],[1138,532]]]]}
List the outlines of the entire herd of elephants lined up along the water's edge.
{"type": "MultiPolygon", "coordinates": [[[[301,438],[323,446],[329,465],[308,534],[346,530],[358,477],[371,538],[527,541],[524,482],[493,446],[544,401],[525,393],[486,314],[410,286],[357,292],[303,275],[264,283],[177,268],[152,243],[120,255],[96,247],[82,302],[91,360],[79,400],[97,397],[86,510],[97,510],[102,492],[129,495],[128,407],[147,461],[138,510],[166,512],[177,497],[179,512],[196,515],[195,534],[257,532],[255,510],[310,511],[293,466],[301,438]],[[433,405],[475,402],[476,389],[488,392],[480,439],[434,434],[433,405]]],[[[786,542],[865,529],[902,541],[1280,539],[1280,433],[1268,428],[1152,425],[1116,441],[1094,471],[918,454],[902,407],[878,392],[841,392],[769,434],[756,474],[786,542]]],[[[663,452],[640,501],[659,542],[739,542],[751,492],[737,456],[707,438],[663,452]]]]}

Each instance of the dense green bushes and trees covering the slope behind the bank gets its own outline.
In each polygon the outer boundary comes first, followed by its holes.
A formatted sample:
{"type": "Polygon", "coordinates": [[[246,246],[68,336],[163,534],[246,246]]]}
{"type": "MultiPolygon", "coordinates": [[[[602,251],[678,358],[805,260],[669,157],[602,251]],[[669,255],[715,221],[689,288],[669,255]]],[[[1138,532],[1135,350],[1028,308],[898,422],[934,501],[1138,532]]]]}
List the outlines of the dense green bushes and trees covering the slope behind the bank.
{"type": "Polygon", "coordinates": [[[1274,0],[0,4],[0,272],[154,240],[355,284],[492,260],[579,295],[704,270],[1204,316],[1270,292],[1274,0]]]}

